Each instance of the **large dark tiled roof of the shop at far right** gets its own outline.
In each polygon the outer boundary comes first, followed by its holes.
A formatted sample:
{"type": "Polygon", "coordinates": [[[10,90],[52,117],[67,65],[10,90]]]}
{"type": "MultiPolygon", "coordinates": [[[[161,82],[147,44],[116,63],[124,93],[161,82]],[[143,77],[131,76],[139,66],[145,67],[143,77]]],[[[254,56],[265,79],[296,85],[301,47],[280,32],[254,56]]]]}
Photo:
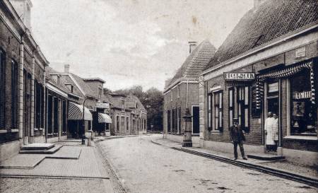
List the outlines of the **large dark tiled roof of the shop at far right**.
{"type": "Polygon", "coordinates": [[[237,57],[249,49],[317,23],[317,0],[267,0],[243,16],[218,48],[206,69],[237,57]]]}

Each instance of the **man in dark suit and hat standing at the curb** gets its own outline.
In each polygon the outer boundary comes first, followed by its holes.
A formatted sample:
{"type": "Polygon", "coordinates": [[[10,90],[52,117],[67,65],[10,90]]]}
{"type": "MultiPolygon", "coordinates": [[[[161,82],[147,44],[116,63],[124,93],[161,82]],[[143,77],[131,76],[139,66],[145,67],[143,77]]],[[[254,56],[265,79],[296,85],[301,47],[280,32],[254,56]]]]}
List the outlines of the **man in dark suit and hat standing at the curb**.
{"type": "Polygon", "coordinates": [[[240,146],[240,151],[243,160],[247,160],[244,153],[243,141],[245,141],[245,136],[242,131],[242,127],[238,124],[238,119],[233,118],[233,124],[230,127],[230,139],[234,145],[234,160],[237,160],[237,145],[240,146]]]}

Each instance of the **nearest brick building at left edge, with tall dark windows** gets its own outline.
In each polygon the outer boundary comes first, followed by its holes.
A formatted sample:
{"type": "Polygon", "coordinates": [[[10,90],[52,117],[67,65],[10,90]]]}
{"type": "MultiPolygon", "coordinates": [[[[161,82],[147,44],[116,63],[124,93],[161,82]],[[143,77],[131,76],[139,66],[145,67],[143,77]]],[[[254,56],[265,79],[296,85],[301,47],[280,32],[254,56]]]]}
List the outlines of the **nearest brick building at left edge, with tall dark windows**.
{"type": "Polygon", "coordinates": [[[0,1],[0,159],[45,141],[45,66],[30,33],[30,1],[0,1]],[[12,4],[11,4],[12,3],[12,4]],[[14,6],[27,6],[15,10],[14,6]],[[23,14],[22,19],[19,18],[23,14]]]}

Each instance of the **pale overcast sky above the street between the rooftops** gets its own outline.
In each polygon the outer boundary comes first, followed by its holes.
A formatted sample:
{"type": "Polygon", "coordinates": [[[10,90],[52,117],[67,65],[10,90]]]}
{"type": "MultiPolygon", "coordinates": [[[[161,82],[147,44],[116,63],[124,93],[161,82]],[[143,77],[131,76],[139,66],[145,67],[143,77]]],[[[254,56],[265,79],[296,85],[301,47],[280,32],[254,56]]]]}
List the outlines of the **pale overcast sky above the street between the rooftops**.
{"type": "Polygon", "coordinates": [[[63,63],[111,90],[163,90],[189,41],[218,48],[253,0],[32,0],[33,36],[52,68],[63,63]]]}

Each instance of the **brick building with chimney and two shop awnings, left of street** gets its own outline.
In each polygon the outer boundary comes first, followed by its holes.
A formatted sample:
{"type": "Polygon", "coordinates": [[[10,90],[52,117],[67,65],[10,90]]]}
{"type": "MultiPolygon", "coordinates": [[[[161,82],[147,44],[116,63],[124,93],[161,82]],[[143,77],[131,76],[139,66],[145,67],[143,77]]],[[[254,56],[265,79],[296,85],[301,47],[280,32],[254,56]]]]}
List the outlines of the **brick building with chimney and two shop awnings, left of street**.
{"type": "Polygon", "coordinates": [[[64,65],[64,72],[55,71],[50,76],[58,76],[59,80],[70,91],[69,137],[81,137],[91,129],[97,131],[98,134],[100,134],[101,130],[105,131],[105,123],[110,123],[110,117],[106,114],[109,105],[102,103],[103,84],[105,81],[100,78],[81,78],[72,74],[69,72],[69,64],[64,65]]]}

